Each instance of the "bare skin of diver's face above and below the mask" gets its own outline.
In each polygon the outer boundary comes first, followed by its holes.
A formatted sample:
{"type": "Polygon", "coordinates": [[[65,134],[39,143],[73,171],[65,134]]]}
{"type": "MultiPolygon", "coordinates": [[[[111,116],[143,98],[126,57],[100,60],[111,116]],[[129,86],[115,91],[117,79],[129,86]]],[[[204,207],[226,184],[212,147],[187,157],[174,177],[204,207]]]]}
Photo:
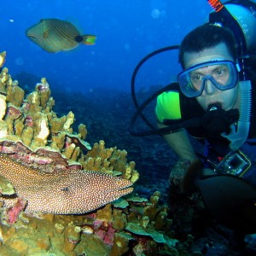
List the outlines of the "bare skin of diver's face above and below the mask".
{"type": "MultiPolygon", "coordinates": [[[[201,52],[185,53],[185,68],[193,67],[207,61],[235,61],[229,54],[229,50],[224,43],[218,44],[210,49],[204,49],[201,52]]],[[[204,75],[207,75],[207,68],[204,75]]],[[[196,97],[197,102],[202,108],[207,110],[208,106],[214,103],[220,103],[224,110],[238,108],[238,86],[229,90],[218,90],[210,80],[207,80],[201,96],[196,97]]]]}

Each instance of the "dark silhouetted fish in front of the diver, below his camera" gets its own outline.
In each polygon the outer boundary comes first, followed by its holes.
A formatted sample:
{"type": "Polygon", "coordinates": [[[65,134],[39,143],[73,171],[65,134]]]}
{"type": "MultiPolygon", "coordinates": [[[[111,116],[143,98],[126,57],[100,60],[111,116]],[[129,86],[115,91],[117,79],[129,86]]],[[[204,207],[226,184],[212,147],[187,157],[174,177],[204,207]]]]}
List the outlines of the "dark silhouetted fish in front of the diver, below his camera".
{"type": "Polygon", "coordinates": [[[243,234],[256,233],[256,188],[233,175],[204,175],[201,162],[195,161],[184,177],[183,189],[194,184],[205,204],[219,223],[243,234]]]}

